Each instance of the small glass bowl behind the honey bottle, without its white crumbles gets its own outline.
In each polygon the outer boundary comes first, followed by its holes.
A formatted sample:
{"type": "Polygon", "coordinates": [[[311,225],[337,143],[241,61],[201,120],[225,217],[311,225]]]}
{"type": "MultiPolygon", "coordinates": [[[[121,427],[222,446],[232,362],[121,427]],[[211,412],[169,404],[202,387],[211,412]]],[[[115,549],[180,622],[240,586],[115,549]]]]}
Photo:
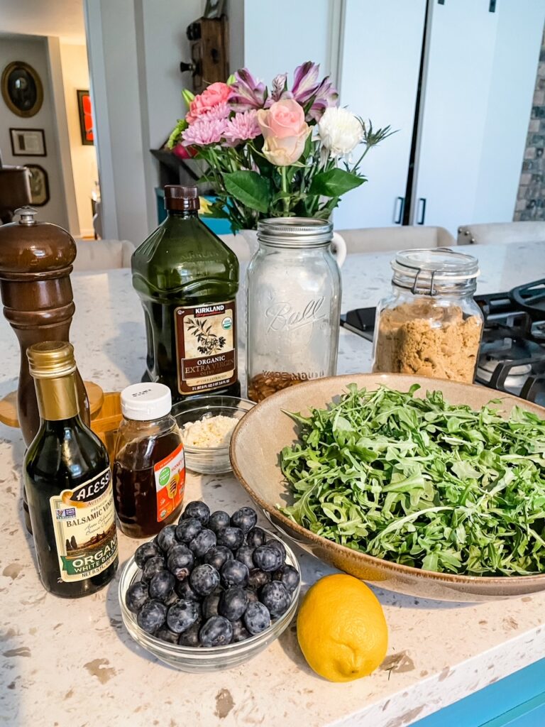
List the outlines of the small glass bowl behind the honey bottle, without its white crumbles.
{"type": "MultiPolygon", "coordinates": [[[[233,417],[242,419],[247,411],[255,406],[254,401],[237,396],[202,396],[201,398],[177,403],[171,414],[178,422],[180,430],[189,422],[197,422],[204,417],[233,417]]],[[[184,444],[185,466],[188,470],[203,475],[219,475],[230,472],[229,442],[219,447],[194,447],[184,444]]]]}

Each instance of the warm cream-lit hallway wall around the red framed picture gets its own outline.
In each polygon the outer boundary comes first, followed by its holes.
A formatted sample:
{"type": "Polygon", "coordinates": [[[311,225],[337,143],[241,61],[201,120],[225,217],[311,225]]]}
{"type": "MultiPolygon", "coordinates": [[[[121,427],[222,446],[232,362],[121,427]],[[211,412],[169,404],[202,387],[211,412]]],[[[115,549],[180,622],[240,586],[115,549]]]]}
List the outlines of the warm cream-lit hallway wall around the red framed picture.
{"type": "Polygon", "coordinates": [[[79,234],[92,236],[91,193],[94,190],[94,182],[98,181],[97,153],[94,146],[84,145],[81,142],[77,95],[78,89],[89,89],[87,49],[84,45],[61,43],[60,58],[79,234]]]}

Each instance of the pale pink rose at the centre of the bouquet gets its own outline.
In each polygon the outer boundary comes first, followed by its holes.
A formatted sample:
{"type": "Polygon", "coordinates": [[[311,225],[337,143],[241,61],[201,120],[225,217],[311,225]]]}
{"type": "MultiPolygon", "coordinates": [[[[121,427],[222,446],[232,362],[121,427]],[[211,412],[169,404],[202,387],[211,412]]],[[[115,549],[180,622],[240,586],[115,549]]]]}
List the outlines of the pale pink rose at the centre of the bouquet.
{"type": "Polygon", "coordinates": [[[302,106],[293,99],[276,101],[267,110],[257,112],[257,122],[265,137],[263,153],[271,164],[294,164],[302,155],[310,133],[302,106]]]}

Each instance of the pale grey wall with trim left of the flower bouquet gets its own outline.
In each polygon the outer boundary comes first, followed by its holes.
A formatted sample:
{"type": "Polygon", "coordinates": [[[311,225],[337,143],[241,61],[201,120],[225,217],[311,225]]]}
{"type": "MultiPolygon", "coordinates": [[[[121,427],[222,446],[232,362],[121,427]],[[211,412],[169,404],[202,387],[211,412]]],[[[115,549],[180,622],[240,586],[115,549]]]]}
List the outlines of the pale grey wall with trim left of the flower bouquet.
{"type": "Polygon", "coordinates": [[[184,113],[185,28],[201,0],[84,0],[105,238],[139,244],[157,225],[160,147],[184,113]]]}

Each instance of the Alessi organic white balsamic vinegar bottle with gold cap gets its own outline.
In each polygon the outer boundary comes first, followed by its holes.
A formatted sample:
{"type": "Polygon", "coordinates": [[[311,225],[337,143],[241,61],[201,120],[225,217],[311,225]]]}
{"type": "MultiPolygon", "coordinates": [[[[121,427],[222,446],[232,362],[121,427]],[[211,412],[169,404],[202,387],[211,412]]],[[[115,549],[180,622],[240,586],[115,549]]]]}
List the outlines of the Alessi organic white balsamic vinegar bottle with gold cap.
{"type": "Polygon", "coordinates": [[[40,428],[24,475],[39,576],[62,598],[96,593],[116,574],[116,510],[108,454],[81,421],[68,342],[28,348],[40,428]]]}

